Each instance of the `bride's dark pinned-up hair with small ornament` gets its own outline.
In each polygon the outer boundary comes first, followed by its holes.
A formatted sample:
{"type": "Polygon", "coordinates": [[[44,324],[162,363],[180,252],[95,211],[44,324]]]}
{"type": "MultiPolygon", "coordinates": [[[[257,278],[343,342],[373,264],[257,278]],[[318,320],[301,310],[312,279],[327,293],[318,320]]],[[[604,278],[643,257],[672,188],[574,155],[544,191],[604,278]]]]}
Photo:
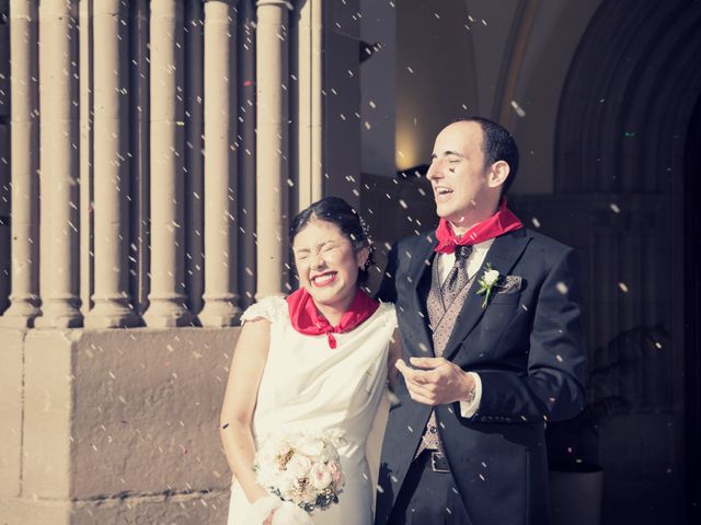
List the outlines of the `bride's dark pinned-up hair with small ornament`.
{"type": "Polygon", "coordinates": [[[368,269],[375,262],[372,257],[375,249],[368,228],[358,212],[341,197],[324,197],[295,215],[289,229],[290,245],[295,242],[297,234],[314,219],[338,226],[338,230],[350,241],[354,252],[357,253],[363,248],[370,250],[365,267],[358,272],[358,283],[364,284],[368,279],[368,269]]]}

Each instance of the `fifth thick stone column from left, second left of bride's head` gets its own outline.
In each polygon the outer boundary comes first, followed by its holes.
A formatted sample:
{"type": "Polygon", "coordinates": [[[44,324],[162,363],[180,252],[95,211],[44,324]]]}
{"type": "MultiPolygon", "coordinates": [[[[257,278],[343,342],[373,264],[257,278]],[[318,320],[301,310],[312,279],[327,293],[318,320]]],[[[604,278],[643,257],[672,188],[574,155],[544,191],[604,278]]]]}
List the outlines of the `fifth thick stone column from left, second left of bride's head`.
{"type": "Polygon", "coordinates": [[[231,326],[237,302],[235,8],[205,2],[205,307],[204,326],[231,326]]]}

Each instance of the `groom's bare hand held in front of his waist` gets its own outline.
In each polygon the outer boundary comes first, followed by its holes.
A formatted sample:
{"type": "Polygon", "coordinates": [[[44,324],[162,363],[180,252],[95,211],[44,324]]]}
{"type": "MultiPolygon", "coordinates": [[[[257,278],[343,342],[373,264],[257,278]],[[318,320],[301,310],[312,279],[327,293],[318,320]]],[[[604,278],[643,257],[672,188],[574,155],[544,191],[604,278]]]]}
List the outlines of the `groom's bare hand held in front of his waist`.
{"type": "Polygon", "coordinates": [[[446,405],[468,398],[474,388],[470,374],[443,358],[411,358],[410,363],[415,369],[401,359],[395,366],[404,376],[409,395],[417,402],[446,405]]]}

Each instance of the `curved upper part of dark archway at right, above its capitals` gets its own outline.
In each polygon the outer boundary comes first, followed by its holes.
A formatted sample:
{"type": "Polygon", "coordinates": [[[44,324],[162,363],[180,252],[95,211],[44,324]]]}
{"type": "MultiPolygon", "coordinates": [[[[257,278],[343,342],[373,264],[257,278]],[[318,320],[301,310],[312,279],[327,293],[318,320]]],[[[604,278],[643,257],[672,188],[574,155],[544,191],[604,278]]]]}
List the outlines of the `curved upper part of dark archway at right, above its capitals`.
{"type": "Polygon", "coordinates": [[[669,176],[659,173],[669,167],[680,184],[683,139],[701,94],[700,23],[698,2],[601,4],[563,89],[558,194],[665,192],[669,176]]]}

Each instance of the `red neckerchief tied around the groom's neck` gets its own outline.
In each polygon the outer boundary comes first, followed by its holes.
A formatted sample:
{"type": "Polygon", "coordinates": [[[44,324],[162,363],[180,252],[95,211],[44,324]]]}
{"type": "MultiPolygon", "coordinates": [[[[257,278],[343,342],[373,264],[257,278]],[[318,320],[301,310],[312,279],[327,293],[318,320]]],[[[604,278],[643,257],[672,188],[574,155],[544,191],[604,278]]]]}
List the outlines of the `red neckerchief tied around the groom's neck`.
{"type": "Polygon", "coordinates": [[[478,222],[460,237],[453,233],[452,226],[448,221],[440,219],[438,228],[436,229],[438,245],[434,250],[441,254],[452,254],[456,250],[456,246],[483,243],[484,241],[498,237],[506,232],[513,232],[520,228],[524,228],[524,224],[506,208],[506,199],[503,198],[496,213],[482,222],[478,222]]]}

